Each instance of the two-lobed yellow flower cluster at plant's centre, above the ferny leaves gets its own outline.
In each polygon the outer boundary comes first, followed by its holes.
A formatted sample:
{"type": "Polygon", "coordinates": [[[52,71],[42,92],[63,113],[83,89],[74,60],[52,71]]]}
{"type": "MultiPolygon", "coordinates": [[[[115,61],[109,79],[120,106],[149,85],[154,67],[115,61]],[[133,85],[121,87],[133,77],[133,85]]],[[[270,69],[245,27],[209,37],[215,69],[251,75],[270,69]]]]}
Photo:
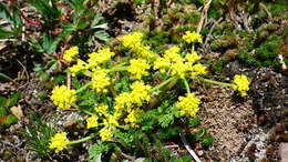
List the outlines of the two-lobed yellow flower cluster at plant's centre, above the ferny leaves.
{"type": "Polygon", "coordinates": [[[133,104],[141,107],[143,102],[148,102],[151,87],[136,81],[131,85],[132,92],[123,92],[115,98],[115,109],[130,111],[133,104]]]}

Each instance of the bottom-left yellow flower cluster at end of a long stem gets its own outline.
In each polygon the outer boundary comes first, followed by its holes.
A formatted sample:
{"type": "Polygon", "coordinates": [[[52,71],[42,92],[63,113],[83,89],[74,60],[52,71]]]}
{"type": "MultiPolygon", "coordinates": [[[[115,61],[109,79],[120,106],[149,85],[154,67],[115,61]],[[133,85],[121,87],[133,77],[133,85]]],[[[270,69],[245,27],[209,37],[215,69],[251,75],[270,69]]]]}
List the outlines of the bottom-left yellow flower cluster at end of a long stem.
{"type": "Polygon", "coordinates": [[[56,133],[54,136],[50,139],[51,143],[49,145],[50,149],[55,149],[55,153],[62,151],[68,144],[69,140],[66,138],[66,132],[56,133]]]}

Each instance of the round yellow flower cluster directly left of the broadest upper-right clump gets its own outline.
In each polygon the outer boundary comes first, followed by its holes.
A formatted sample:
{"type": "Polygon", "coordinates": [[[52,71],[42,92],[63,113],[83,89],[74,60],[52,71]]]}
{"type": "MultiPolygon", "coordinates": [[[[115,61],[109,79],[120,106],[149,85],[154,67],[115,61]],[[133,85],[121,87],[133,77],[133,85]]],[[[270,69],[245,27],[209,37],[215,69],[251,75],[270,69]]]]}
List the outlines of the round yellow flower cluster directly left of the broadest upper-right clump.
{"type": "Polygon", "coordinates": [[[141,79],[142,75],[148,75],[146,70],[150,69],[150,64],[144,59],[132,59],[130,61],[128,72],[134,75],[135,79],[141,79]]]}

